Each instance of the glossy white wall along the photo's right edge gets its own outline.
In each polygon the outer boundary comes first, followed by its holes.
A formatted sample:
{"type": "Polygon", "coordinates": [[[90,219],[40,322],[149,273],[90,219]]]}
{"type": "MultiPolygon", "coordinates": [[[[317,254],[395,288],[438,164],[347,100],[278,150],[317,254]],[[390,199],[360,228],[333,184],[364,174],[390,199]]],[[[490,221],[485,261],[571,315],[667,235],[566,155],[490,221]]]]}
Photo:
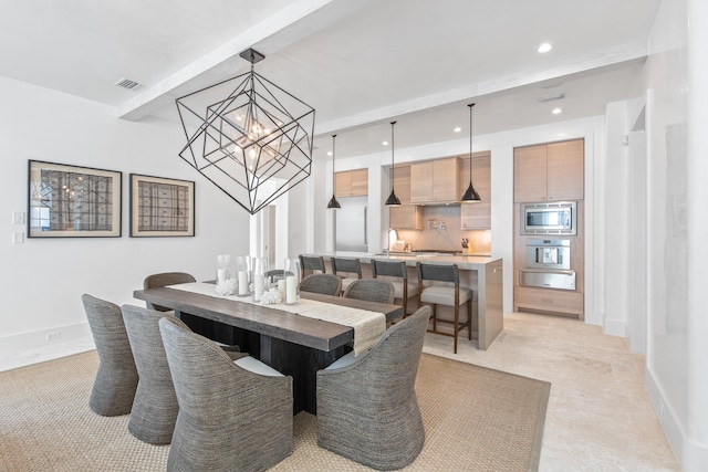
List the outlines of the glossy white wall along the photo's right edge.
{"type": "Polygon", "coordinates": [[[684,471],[708,470],[708,9],[664,0],[645,65],[647,389],[684,471]]]}

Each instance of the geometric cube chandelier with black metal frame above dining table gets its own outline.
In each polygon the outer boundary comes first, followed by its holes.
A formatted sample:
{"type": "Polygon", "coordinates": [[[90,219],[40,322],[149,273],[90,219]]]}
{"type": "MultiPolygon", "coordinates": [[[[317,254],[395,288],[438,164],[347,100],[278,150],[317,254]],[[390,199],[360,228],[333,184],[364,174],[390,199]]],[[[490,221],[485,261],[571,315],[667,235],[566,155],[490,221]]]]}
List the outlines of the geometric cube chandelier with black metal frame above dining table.
{"type": "Polygon", "coordinates": [[[251,214],[306,179],[314,108],[253,71],[177,98],[185,161],[251,214]]]}

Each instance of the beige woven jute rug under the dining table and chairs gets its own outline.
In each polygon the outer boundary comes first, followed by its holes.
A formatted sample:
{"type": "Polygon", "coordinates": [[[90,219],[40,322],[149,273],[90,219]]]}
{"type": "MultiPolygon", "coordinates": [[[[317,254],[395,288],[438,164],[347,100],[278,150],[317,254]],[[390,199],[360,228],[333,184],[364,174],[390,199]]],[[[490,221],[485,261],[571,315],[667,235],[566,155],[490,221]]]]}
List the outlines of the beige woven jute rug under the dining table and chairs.
{"type": "MultiPolygon", "coordinates": [[[[95,350],[0,373],[1,471],[159,471],[168,445],[143,443],[128,416],[88,408],[95,350]]],[[[551,385],[424,354],[416,392],[426,431],[409,471],[538,470],[551,385]]],[[[294,417],[292,454],[272,471],[366,471],[317,447],[316,417],[294,417]]]]}

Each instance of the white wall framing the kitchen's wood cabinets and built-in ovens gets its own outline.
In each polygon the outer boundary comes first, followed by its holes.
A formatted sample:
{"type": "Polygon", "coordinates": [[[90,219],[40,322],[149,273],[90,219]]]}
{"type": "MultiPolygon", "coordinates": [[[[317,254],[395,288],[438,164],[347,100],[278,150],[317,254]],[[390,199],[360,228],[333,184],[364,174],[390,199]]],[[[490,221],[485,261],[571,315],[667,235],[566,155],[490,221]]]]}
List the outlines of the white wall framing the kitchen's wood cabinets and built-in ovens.
{"type": "MultiPolygon", "coordinates": [[[[399,120],[400,122],[400,120],[399,120]]],[[[595,188],[602,186],[602,172],[595,169],[605,159],[604,145],[604,118],[593,117],[570,122],[560,122],[553,125],[535,126],[512,132],[496,133],[491,135],[475,136],[473,151],[491,150],[491,249],[492,255],[503,258],[504,270],[504,296],[503,311],[511,313],[513,306],[513,148],[540,143],[558,141],[565,139],[585,139],[585,260],[604,261],[604,247],[595,245],[595,219],[593,198],[595,188]],[[595,176],[598,176],[597,179],[595,176]]],[[[396,162],[410,162],[416,160],[431,159],[436,157],[467,155],[469,153],[469,137],[444,143],[434,143],[425,146],[396,148],[396,162]]],[[[326,175],[331,176],[332,162],[317,162],[326,168],[326,175]]],[[[368,167],[369,171],[369,241],[378,243],[385,241],[382,221],[385,220],[383,201],[387,197],[388,183],[382,179],[388,178],[388,172],[382,168],[391,166],[389,151],[356,156],[336,161],[336,170],[351,170],[358,167],[368,167]],[[371,191],[375,189],[381,193],[375,197],[371,191]],[[385,193],[385,195],[384,195],[385,193]]],[[[316,208],[325,208],[329,200],[332,185],[327,185],[326,199],[315,201],[316,208]]],[[[315,225],[313,231],[330,233],[332,221],[324,220],[325,225],[315,225]]],[[[600,227],[602,228],[602,225],[600,227]]],[[[385,243],[383,245],[385,248],[385,243]]],[[[316,248],[315,251],[326,251],[330,248],[316,248]]],[[[375,252],[369,245],[369,251],[375,252]]],[[[596,268],[592,263],[586,263],[585,291],[590,295],[585,297],[585,321],[591,324],[602,324],[604,318],[604,297],[593,296],[595,285],[600,284],[603,290],[602,279],[595,280],[596,268]]]]}

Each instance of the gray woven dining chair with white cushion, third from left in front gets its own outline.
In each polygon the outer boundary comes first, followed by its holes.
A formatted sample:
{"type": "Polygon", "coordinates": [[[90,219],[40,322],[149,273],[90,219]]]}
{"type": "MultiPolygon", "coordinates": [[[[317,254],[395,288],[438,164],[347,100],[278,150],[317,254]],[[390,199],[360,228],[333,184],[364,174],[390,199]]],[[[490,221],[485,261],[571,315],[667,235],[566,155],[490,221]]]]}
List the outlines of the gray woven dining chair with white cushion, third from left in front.
{"type": "Polygon", "coordinates": [[[168,471],[261,471],[290,455],[292,377],[252,357],[232,361],[175,317],[159,331],[179,403],[168,471]]]}

